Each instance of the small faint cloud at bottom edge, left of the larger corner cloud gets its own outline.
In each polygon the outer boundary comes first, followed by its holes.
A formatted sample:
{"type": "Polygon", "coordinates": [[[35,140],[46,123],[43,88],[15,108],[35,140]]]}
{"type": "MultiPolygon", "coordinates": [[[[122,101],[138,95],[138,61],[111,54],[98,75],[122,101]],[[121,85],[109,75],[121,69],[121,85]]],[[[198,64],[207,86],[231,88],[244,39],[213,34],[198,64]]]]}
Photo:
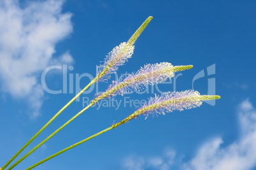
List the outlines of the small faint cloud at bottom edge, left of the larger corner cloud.
{"type": "Polygon", "coordinates": [[[163,155],[157,157],[126,157],[122,162],[122,169],[144,170],[147,168],[157,170],[168,170],[174,163],[176,153],[173,150],[166,150],[163,155]]]}

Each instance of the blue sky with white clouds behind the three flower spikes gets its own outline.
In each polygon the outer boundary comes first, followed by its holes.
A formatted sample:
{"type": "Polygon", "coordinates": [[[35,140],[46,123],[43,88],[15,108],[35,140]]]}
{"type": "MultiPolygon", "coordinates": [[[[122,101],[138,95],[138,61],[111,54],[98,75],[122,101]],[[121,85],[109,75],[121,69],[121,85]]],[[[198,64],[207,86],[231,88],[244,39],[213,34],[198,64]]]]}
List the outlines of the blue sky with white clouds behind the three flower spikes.
{"type": "MultiPolygon", "coordinates": [[[[115,97],[120,107],[89,108],[15,169],[25,169],[121,121],[138,108],[124,105],[124,100],[147,100],[153,93],[192,86],[203,95],[216,93],[222,98],[183,112],[146,120],[141,116],[35,169],[255,169],[255,11],[255,1],[1,1],[0,167],[75,96],[76,89],[90,82],[111,49],[153,16],[136,41],[132,58],[116,75],[136,72],[147,63],[194,68],[149,87],[150,93],[115,97]],[[68,84],[63,69],[50,70],[46,86],[62,90],[50,94],[43,89],[41,76],[56,65],[67,65],[68,84]]],[[[22,155],[114,79],[115,75],[90,88],[22,155]]]]}

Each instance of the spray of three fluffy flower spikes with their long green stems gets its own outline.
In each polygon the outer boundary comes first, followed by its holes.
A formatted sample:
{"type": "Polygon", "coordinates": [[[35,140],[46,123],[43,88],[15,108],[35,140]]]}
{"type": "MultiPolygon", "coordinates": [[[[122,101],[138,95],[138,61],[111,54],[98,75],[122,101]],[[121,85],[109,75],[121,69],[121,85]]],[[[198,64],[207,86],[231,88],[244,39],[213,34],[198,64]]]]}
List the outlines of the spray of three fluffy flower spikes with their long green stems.
{"type": "MultiPolygon", "coordinates": [[[[136,30],[136,32],[132,35],[132,37],[127,42],[122,42],[119,46],[116,46],[113,48],[113,50],[108,53],[106,56],[103,65],[101,65],[99,72],[97,73],[96,77],[87,85],[85,88],[80,91],[73,99],[71,99],[64,107],[62,107],[57,114],[53,115],[52,119],[48,121],[43,128],[41,128],[32,138],[25,143],[25,145],[18,150],[17,154],[15,154],[11,159],[2,167],[0,170],[4,170],[6,167],[9,166],[9,164],[50,124],[56,117],[62,113],[73,101],[78,98],[78,96],[82,95],[82,93],[88,89],[92,84],[96,83],[97,81],[107,81],[110,77],[110,74],[118,70],[118,67],[123,65],[129,58],[131,58],[132,54],[134,53],[134,42],[138,39],[139,35],[143,32],[143,30],[146,28],[148,23],[152,20],[152,16],[149,16],[145,22],[142,23],[142,25],[139,27],[139,29],[136,30]]],[[[57,134],[62,128],[67,126],[71,121],[76,119],[80,114],[85,112],[88,108],[92,107],[92,105],[95,105],[99,100],[103,100],[104,98],[110,98],[114,97],[116,95],[125,95],[127,93],[130,93],[134,90],[141,90],[145,88],[147,85],[154,85],[158,84],[160,82],[164,82],[167,79],[170,79],[174,76],[175,72],[183,71],[192,69],[192,65],[178,65],[173,66],[169,62],[162,62],[162,63],[155,63],[155,64],[147,64],[144,67],[141,67],[137,72],[129,74],[124,79],[118,79],[117,81],[113,81],[110,86],[106,89],[104,93],[101,93],[97,95],[87,107],[83,108],[78,114],[74,115],[69,121],[64,123],[60,128],[55,130],[52,134],[50,134],[45,140],[41,141],[36,147],[32,148],[27,154],[25,154],[23,157],[17,160],[12,166],[10,166],[7,170],[13,169],[15,166],[17,166],[22,160],[24,160],[26,157],[28,157],[32,152],[37,150],[43,143],[50,140],[55,134],[57,134]]],[[[217,100],[220,96],[214,95],[200,95],[199,92],[188,90],[188,91],[181,91],[181,92],[167,92],[162,95],[155,95],[154,98],[150,98],[148,103],[146,103],[143,107],[136,110],[133,114],[126,117],[124,120],[112,124],[110,128],[104,129],[103,131],[96,133],[89,138],[85,138],[82,141],[79,141],[78,143],[75,143],[74,145],[71,145],[64,150],[60,150],[60,152],[57,152],[56,154],[51,155],[50,157],[47,157],[46,159],[43,159],[39,161],[38,163],[32,165],[31,167],[28,167],[27,169],[32,169],[36,166],[39,166],[39,164],[42,164],[43,162],[46,162],[47,160],[52,159],[53,157],[56,157],[57,155],[60,155],[67,150],[76,147],[85,141],[88,141],[96,136],[99,136],[99,134],[105,133],[106,131],[109,131],[110,129],[115,129],[118,126],[125,124],[126,122],[131,121],[132,119],[138,118],[140,115],[145,115],[146,117],[149,114],[165,114],[165,112],[172,112],[173,110],[184,110],[194,107],[199,107],[202,104],[202,101],[204,100],[217,100]]]]}

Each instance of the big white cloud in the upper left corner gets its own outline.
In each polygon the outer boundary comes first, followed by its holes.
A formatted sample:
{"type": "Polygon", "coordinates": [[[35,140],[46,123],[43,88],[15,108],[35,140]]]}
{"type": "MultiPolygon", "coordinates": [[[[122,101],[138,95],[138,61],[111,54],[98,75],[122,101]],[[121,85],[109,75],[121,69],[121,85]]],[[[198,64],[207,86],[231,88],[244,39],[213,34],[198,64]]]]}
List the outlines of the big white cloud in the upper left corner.
{"type": "Polygon", "coordinates": [[[0,1],[1,91],[26,99],[32,118],[43,103],[39,76],[53,63],[71,63],[68,52],[53,59],[55,45],[73,30],[71,13],[61,13],[63,1],[0,1]]]}

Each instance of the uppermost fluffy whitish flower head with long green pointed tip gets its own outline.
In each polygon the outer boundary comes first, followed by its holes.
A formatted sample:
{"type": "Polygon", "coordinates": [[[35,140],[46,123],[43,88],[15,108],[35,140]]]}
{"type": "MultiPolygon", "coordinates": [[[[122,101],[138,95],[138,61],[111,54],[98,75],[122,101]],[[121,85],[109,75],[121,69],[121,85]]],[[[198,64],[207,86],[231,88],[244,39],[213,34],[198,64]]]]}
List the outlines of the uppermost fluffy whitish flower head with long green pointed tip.
{"type": "Polygon", "coordinates": [[[148,23],[152,20],[152,16],[149,16],[145,22],[136,30],[132,37],[127,42],[122,42],[119,46],[116,46],[108,55],[106,56],[103,65],[99,66],[97,72],[97,80],[104,81],[110,77],[110,74],[115,72],[120,65],[123,65],[128,58],[131,58],[134,51],[134,42],[138,39],[139,35],[146,28],[148,23]]]}

